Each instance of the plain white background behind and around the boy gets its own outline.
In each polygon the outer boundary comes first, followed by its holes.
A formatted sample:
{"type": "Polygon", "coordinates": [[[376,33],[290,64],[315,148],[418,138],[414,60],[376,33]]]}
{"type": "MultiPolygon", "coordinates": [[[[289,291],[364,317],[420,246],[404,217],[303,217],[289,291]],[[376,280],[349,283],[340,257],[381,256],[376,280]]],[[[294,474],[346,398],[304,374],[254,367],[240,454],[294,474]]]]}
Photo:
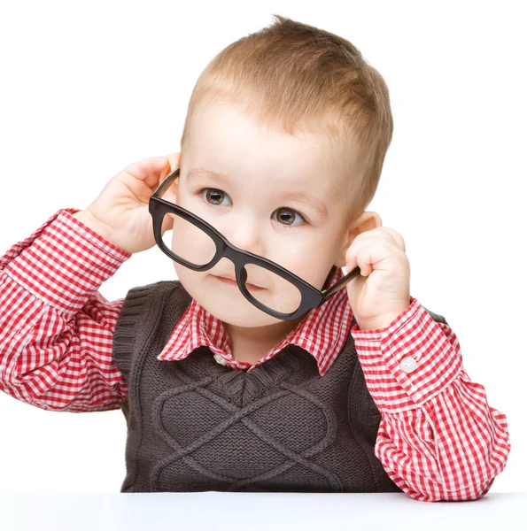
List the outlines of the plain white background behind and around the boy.
{"type": "MultiPolygon", "coordinates": [[[[4,2],[0,7],[0,255],[115,173],[179,150],[205,65],[272,14],[342,35],[384,76],[395,129],[368,210],[405,238],[411,294],[444,315],[464,365],[508,417],[493,491],[524,490],[523,2],[4,2]]],[[[101,288],[174,279],[157,248],[101,288]]],[[[0,492],[118,492],[120,410],[46,412],[0,393],[0,492]]]]}

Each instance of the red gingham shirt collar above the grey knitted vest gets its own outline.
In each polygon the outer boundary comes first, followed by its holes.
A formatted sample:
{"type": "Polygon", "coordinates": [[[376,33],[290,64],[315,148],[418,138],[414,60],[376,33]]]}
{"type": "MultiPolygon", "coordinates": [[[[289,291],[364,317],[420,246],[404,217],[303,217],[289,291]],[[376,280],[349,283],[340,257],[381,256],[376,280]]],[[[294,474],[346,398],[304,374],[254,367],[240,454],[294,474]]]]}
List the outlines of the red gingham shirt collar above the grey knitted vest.
{"type": "MultiPolygon", "coordinates": [[[[344,273],[340,267],[334,266],[330,275],[328,287],[339,281],[344,273]]],[[[349,304],[347,290],[345,288],[339,289],[322,306],[307,312],[306,317],[291,330],[282,342],[267,351],[264,357],[252,365],[232,358],[229,349],[229,335],[221,324],[221,320],[215,318],[195,299],[192,299],[182,318],[175,325],[158,359],[180,360],[189,356],[198,347],[206,346],[216,355],[224,358],[229,366],[251,370],[272,358],[287,345],[295,344],[315,358],[319,373],[322,376],[344,347],[345,340],[350,333],[352,320],[353,311],[349,304]]]]}

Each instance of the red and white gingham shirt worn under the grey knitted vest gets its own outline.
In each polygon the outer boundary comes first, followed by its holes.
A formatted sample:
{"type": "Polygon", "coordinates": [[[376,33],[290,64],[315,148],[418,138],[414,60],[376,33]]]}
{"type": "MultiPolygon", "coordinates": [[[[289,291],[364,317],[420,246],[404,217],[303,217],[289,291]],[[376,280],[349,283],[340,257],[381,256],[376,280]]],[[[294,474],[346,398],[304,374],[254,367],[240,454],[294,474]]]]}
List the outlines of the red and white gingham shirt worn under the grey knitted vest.
{"type": "MultiPolygon", "coordinates": [[[[59,210],[0,258],[0,389],[44,410],[120,409],[127,381],[112,363],[112,335],[124,299],[108,301],[98,289],[131,254],[75,212],[59,210]]],[[[330,284],[342,275],[337,269],[330,284]]],[[[452,329],[410,302],[388,327],[360,330],[342,289],[251,365],[232,357],[221,321],[193,300],[158,358],[206,345],[219,363],[251,370],[295,343],[323,375],[352,334],[381,412],[375,454],[391,479],[417,500],[477,499],[507,462],[506,416],[469,379],[452,329]],[[409,372],[401,366],[408,358],[409,372]]]]}

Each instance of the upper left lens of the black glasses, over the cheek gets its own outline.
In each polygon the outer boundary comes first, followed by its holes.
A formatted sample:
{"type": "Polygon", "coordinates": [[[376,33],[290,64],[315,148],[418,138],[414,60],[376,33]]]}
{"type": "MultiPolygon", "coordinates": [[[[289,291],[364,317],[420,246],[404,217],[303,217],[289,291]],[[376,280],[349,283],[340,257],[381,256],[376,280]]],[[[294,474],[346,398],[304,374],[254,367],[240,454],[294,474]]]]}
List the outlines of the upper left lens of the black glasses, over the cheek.
{"type": "Polygon", "coordinates": [[[169,212],[163,219],[165,226],[169,228],[162,235],[163,242],[177,257],[193,266],[205,266],[214,258],[216,244],[201,228],[169,212]]]}

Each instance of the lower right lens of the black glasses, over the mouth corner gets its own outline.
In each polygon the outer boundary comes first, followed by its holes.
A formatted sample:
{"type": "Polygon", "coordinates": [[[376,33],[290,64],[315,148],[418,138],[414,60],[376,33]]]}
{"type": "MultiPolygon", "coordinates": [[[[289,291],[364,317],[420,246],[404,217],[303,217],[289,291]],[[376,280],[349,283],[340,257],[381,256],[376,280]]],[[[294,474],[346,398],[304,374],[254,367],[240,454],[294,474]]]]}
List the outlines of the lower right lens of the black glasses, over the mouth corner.
{"type": "Polygon", "coordinates": [[[252,298],[275,312],[292,313],[298,310],[302,296],[290,281],[255,264],[246,264],[245,269],[245,288],[252,298]]]}

